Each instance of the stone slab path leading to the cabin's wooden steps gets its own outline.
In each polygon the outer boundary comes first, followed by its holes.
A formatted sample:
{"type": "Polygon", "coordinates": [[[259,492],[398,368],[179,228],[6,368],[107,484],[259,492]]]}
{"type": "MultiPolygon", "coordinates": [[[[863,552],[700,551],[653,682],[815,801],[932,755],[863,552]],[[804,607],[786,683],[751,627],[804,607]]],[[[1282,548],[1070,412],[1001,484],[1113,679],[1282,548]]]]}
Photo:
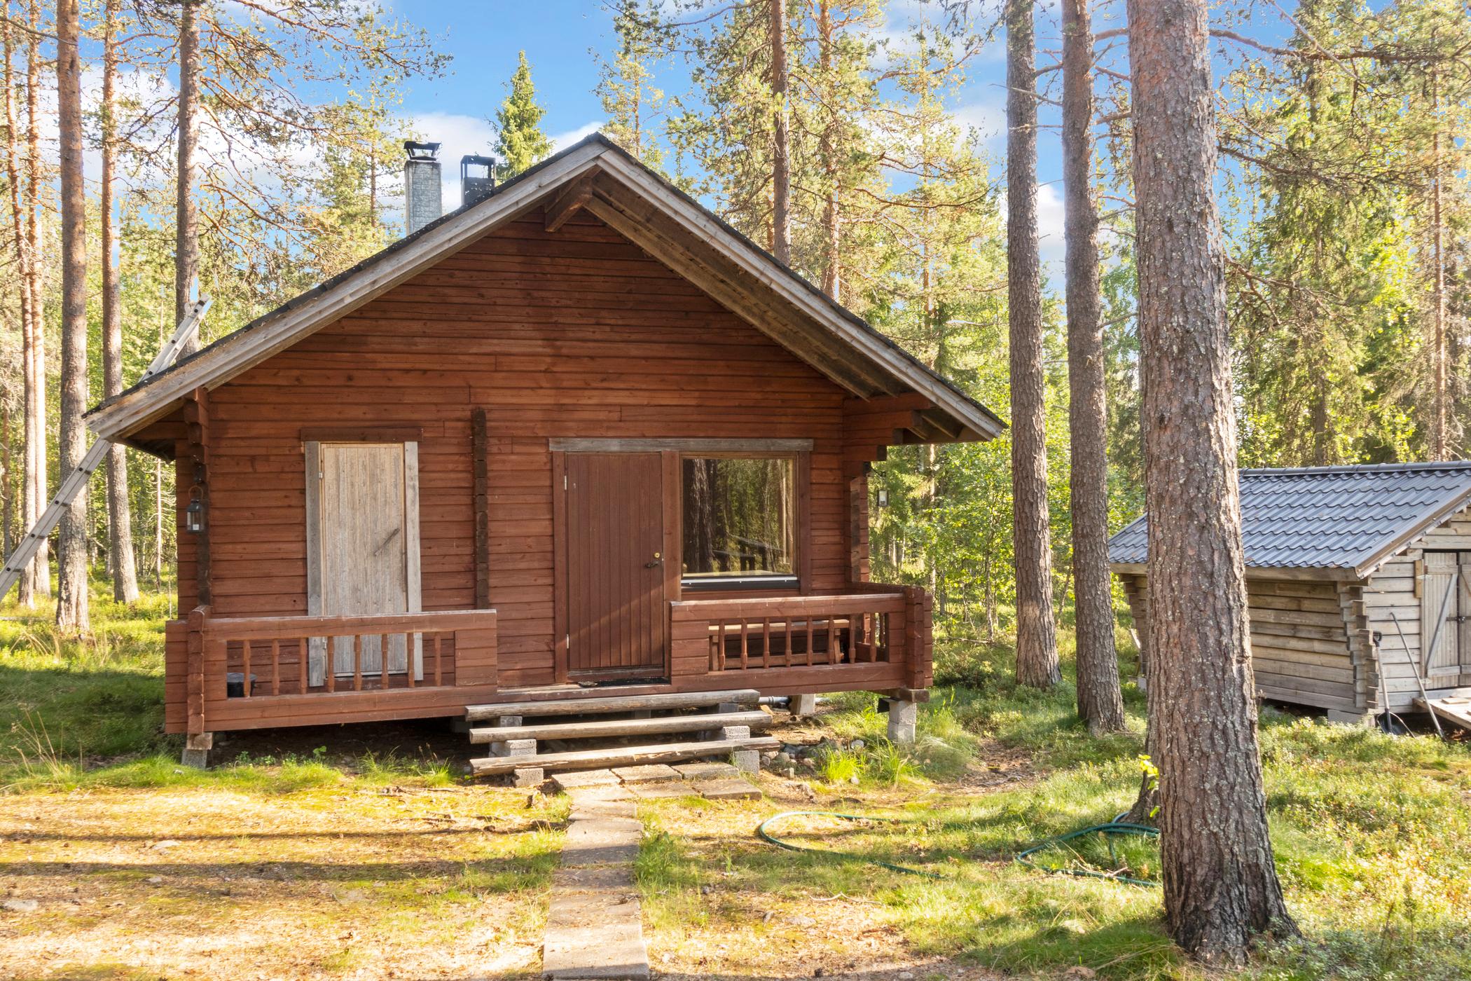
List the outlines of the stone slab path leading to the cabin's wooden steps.
{"type": "Polygon", "coordinates": [[[572,799],[562,866],[552,874],[552,905],[541,947],[541,974],[555,981],[647,978],[634,859],[638,857],[641,797],[759,797],[728,763],[634,766],[558,774],[572,799]],[[688,781],[688,782],[687,782],[688,781]]]}

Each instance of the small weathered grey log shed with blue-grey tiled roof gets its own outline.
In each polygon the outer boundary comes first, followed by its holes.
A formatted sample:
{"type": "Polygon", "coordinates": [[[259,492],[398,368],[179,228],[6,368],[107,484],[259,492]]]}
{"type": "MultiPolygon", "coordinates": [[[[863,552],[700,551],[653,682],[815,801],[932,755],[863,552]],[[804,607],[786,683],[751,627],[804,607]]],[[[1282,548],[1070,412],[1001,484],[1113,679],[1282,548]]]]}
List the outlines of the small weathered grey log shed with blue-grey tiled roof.
{"type": "MultiPolygon", "coordinates": [[[[1471,462],[1246,469],[1240,491],[1259,697],[1342,722],[1464,713],[1471,462]]],[[[1147,528],[1140,516],[1109,541],[1139,624],[1147,528]]]]}

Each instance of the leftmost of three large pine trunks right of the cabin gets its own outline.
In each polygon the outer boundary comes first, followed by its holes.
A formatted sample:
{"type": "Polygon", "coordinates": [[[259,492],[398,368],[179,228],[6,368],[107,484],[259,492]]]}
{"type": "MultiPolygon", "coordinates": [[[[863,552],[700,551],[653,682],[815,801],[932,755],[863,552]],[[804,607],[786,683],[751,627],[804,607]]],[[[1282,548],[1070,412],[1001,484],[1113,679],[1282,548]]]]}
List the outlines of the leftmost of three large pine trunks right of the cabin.
{"type": "Polygon", "coordinates": [[[1016,681],[1062,679],[1052,619],[1046,377],[1037,254],[1037,97],[1033,0],[1006,3],[1006,291],[1011,327],[1012,524],[1016,557],[1016,681]]]}

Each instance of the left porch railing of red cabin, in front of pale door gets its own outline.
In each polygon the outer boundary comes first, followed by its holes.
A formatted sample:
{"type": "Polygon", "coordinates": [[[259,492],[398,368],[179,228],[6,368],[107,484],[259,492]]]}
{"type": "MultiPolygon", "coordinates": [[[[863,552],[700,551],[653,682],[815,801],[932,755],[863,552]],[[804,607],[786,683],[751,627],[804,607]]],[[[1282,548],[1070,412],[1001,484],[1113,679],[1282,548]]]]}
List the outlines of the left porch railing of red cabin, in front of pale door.
{"type": "Polygon", "coordinates": [[[327,704],[391,718],[405,699],[422,702],[416,691],[496,684],[496,610],[213,618],[199,607],[187,638],[190,732],[207,731],[206,716],[344,721],[327,704]]]}

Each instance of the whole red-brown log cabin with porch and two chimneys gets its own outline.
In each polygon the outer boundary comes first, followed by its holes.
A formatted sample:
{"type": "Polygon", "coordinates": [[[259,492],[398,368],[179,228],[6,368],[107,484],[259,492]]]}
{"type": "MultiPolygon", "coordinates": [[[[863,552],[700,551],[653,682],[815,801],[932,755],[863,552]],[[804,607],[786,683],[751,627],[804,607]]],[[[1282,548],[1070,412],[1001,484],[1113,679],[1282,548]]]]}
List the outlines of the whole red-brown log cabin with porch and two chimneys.
{"type": "MultiPolygon", "coordinates": [[[[931,599],[869,581],[866,472],[1000,421],[602,135],[466,157],[446,215],[406,146],[405,238],[88,415],[174,462],[185,756],[843,690],[912,737],[931,599]]],[[[759,743],[728,721],[662,725],[759,743]]]]}

